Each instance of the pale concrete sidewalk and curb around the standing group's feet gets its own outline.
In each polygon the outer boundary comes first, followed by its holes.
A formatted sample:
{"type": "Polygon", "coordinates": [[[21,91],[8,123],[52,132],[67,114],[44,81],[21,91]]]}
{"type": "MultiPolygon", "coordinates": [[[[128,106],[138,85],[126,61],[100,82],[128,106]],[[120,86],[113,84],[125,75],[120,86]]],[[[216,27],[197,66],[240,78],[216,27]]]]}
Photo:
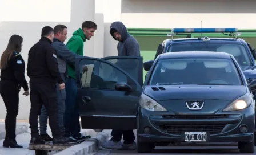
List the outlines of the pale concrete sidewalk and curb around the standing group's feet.
{"type": "MultiPolygon", "coordinates": [[[[5,132],[5,128],[4,124],[1,123],[1,125],[3,125],[1,127],[2,132],[4,129],[5,132]]],[[[26,123],[26,121],[24,123],[17,123],[17,127],[22,127],[23,131],[25,131],[26,133],[23,134],[17,134],[16,140],[17,143],[19,145],[22,145],[23,148],[22,149],[16,149],[16,148],[3,148],[3,139],[0,140],[0,155],[2,154],[19,154],[19,155],[34,155],[35,151],[34,150],[29,150],[29,142],[30,142],[30,129],[29,129],[29,123],[26,123]]],[[[1,130],[0,130],[1,133],[1,130]]],[[[51,136],[51,129],[49,127],[49,125],[47,125],[47,133],[51,136]]],[[[98,151],[98,146],[102,144],[102,142],[105,142],[106,140],[109,139],[110,137],[110,130],[103,130],[103,132],[100,133],[96,133],[94,132],[93,129],[81,129],[81,133],[85,136],[90,135],[92,138],[90,138],[89,140],[86,140],[85,142],[82,142],[81,144],[75,145],[75,146],[71,146],[70,148],[67,148],[63,151],[52,151],[50,154],[57,154],[57,155],[64,155],[64,154],[68,154],[68,155],[72,155],[72,154],[93,154],[93,153],[97,153],[98,151]]],[[[4,133],[5,134],[5,133],[4,133]]],[[[5,138],[5,137],[3,137],[5,138]]]]}

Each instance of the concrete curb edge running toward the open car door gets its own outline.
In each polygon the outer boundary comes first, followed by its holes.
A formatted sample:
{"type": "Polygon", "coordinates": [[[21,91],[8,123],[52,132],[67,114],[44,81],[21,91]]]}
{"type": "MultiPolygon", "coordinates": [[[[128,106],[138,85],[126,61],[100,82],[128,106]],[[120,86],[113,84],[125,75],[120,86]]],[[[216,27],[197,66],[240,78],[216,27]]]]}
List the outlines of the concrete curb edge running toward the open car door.
{"type": "Polygon", "coordinates": [[[97,136],[92,137],[81,144],[71,146],[55,155],[89,155],[98,151],[99,146],[109,140],[111,130],[103,130],[97,136]]]}

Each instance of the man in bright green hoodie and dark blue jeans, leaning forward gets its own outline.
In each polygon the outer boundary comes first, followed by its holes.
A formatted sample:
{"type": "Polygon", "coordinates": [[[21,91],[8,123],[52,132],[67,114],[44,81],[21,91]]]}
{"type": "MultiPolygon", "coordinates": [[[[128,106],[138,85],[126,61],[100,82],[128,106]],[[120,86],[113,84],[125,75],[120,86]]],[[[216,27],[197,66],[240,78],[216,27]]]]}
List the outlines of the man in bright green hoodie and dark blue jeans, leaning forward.
{"type": "MultiPolygon", "coordinates": [[[[85,21],[82,23],[82,28],[73,32],[73,36],[67,42],[67,48],[78,55],[83,56],[83,43],[90,40],[97,30],[97,25],[92,21],[85,21]]],[[[65,132],[66,137],[76,140],[90,138],[90,136],[83,136],[80,133],[77,97],[77,81],[75,79],[74,64],[67,64],[67,81],[66,81],[66,108],[65,108],[65,132]]]]}

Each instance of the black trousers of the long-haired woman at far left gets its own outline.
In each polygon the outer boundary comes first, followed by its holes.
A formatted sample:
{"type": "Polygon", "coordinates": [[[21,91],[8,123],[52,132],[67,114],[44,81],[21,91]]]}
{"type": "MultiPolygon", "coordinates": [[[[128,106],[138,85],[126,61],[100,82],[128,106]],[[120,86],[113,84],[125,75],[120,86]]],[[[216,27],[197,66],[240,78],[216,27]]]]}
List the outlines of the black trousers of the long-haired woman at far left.
{"type": "Polygon", "coordinates": [[[19,89],[14,81],[1,80],[0,93],[6,107],[5,131],[6,138],[10,140],[16,138],[16,117],[19,109],[19,89]]]}

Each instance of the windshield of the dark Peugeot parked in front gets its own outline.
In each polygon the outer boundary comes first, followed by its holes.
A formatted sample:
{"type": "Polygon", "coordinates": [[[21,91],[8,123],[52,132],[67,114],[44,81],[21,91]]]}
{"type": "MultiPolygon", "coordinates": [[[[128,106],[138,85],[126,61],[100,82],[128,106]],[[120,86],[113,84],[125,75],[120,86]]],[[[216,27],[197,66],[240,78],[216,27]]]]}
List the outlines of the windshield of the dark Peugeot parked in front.
{"type": "Polygon", "coordinates": [[[182,58],[159,60],[149,85],[242,85],[232,60],[182,58]]]}

